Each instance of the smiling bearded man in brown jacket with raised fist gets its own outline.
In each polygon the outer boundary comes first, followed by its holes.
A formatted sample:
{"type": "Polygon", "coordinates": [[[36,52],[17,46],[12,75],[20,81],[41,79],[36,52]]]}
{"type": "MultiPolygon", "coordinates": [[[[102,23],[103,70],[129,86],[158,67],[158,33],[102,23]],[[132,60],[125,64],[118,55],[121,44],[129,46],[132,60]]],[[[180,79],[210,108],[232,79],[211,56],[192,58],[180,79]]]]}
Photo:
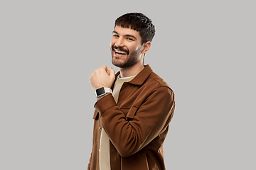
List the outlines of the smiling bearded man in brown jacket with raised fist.
{"type": "Polygon", "coordinates": [[[165,169],[163,143],[174,114],[174,92],[144,56],[155,34],[142,13],[127,13],[115,21],[110,50],[112,64],[90,77],[97,94],[91,170],[165,169]]]}

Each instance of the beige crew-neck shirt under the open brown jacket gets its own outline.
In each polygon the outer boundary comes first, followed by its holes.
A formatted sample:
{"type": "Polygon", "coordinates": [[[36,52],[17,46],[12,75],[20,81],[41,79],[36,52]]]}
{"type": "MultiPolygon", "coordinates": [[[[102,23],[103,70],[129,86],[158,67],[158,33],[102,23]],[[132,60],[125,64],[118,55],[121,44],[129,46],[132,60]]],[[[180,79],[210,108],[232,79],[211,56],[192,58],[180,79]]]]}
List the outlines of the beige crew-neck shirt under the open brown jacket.
{"type": "MultiPolygon", "coordinates": [[[[124,82],[131,81],[135,76],[132,77],[117,77],[117,81],[114,83],[113,97],[114,101],[117,103],[120,89],[124,82]]],[[[100,170],[110,170],[110,139],[107,133],[102,128],[102,133],[100,137],[100,170]]]]}

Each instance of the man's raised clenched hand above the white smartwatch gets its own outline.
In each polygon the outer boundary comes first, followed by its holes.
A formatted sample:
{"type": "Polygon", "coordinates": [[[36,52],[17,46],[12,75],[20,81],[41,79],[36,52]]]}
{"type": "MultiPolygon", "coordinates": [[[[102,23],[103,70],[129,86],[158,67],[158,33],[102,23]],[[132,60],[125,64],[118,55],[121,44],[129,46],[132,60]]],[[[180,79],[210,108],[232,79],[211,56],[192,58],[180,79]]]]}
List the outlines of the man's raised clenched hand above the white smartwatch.
{"type": "Polygon", "coordinates": [[[114,83],[115,75],[114,69],[110,67],[110,70],[107,69],[106,65],[103,65],[99,69],[96,69],[94,73],[90,76],[90,83],[92,84],[92,89],[96,90],[100,87],[111,88],[114,83]]]}

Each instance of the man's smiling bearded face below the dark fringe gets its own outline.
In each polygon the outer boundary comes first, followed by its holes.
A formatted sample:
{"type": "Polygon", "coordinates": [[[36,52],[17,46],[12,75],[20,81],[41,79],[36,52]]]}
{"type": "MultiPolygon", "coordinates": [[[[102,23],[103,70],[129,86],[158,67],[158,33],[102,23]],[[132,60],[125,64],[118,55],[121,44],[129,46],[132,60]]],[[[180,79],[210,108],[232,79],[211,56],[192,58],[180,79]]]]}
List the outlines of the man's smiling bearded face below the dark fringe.
{"type": "Polygon", "coordinates": [[[119,68],[131,67],[143,57],[142,38],[137,30],[116,26],[110,42],[112,64],[119,68]]]}

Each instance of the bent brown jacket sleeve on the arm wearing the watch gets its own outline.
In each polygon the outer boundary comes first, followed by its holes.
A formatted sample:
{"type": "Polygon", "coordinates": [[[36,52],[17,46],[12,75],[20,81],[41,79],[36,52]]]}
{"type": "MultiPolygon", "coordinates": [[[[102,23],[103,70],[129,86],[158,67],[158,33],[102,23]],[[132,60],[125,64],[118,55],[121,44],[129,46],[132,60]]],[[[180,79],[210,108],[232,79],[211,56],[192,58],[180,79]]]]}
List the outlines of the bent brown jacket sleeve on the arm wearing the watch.
{"type": "Polygon", "coordinates": [[[168,87],[151,91],[141,106],[132,106],[127,116],[120,111],[112,95],[95,103],[103,128],[122,157],[139,152],[168,126],[174,113],[174,93],[168,87]]]}

